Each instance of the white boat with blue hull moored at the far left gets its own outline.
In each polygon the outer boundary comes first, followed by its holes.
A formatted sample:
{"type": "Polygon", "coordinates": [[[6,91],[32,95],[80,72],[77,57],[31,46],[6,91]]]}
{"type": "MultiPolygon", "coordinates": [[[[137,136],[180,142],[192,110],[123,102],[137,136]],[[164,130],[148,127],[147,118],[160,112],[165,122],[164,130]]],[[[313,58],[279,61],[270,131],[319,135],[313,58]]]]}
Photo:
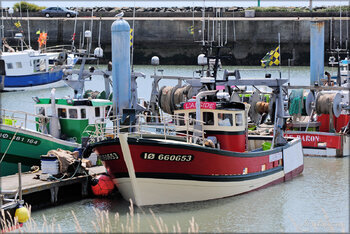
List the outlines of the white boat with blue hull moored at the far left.
{"type": "Polygon", "coordinates": [[[35,50],[4,52],[0,69],[5,76],[0,80],[5,91],[43,89],[64,86],[60,66],[50,64],[59,53],[40,53],[35,50]]]}

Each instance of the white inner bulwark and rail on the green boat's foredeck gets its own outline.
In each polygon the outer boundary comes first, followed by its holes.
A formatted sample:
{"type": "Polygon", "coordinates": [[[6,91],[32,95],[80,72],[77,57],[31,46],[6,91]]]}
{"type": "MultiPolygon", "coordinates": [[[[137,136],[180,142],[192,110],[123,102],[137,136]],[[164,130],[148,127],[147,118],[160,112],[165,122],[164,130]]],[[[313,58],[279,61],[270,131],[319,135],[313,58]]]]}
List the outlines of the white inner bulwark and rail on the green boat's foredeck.
{"type": "Polygon", "coordinates": [[[23,126],[27,128],[29,123],[39,124],[38,120],[46,118],[43,115],[35,115],[25,111],[0,109],[0,123],[10,126],[23,126]]]}

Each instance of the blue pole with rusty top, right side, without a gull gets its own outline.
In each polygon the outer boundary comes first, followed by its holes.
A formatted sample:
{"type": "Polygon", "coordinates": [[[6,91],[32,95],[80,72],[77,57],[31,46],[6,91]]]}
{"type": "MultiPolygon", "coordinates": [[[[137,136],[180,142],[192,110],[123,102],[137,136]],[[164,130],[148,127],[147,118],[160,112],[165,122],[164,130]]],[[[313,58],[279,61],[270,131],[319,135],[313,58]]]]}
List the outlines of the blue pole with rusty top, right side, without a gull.
{"type": "Polygon", "coordinates": [[[324,77],[324,22],[311,21],[310,25],[310,85],[324,77]]]}

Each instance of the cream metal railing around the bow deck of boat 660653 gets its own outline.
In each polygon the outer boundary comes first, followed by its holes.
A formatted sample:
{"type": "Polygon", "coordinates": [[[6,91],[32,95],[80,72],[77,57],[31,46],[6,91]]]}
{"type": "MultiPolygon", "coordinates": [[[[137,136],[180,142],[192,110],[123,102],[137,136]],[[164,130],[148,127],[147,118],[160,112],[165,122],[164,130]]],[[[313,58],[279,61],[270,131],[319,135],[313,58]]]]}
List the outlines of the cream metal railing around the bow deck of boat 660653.
{"type": "Polygon", "coordinates": [[[124,121],[122,116],[111,116],[111,123],[105,120],[96,120],[93,130],[85,129],[83,135],[89,136],[89,142],[95,143],[105,139],[114,139],[120,133],[138,135],[140,138],[146,135],[158,135],[164,140],[182,138],[187,143],[204,145],[204,122],[179,115],[150,116],[146,114],[135,115],[134,121],[124,121]],[[152,120],[152,121],[151,121],[152,120]],[[176,122],[181,122],[179,126],[176,122]],[[112,126],[111,126],[112,125],[112,126]]]}

